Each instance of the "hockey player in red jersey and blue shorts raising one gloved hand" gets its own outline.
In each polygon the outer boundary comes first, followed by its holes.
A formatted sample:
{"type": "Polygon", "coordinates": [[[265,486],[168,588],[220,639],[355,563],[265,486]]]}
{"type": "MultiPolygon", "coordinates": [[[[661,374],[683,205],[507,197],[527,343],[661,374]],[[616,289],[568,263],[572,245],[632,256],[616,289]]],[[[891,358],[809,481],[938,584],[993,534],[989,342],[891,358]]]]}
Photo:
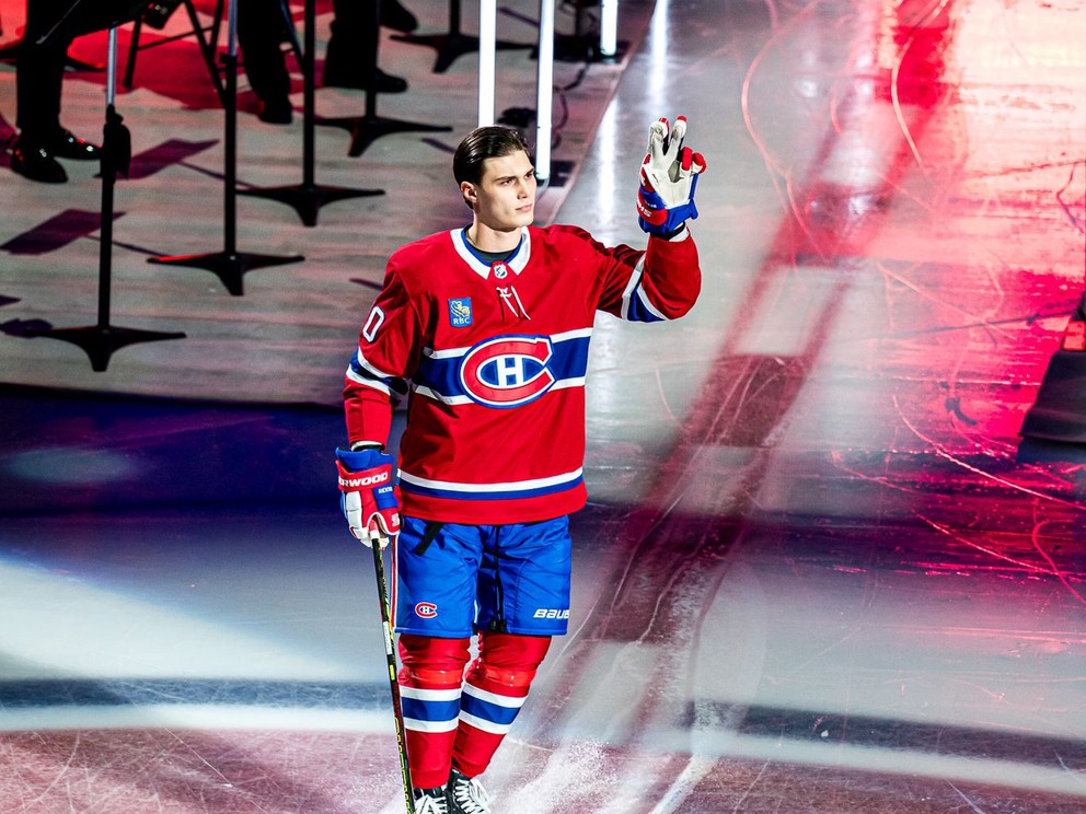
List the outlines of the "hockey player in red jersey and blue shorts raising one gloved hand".
{"type": "Polygon", "coordinates": [[[566,632],[567,515],[587,499],[584,388],[597,311],[655,323],[697,298],[685,221],[697,217],[705,161],[683,147],[685,130],[682,117],[650,128],[637,195],[645,249],[533,226],[523,139],[504,127],[472,131],[453,158],[472,223],[397,249],[362,324],[344,389],[339,488],[355,537],[395,540],[398,684],[418,814],[490,811],[478,777],[551,637],[566,632]],[[385,443],[408,392],[395,485],[385,443]]]}

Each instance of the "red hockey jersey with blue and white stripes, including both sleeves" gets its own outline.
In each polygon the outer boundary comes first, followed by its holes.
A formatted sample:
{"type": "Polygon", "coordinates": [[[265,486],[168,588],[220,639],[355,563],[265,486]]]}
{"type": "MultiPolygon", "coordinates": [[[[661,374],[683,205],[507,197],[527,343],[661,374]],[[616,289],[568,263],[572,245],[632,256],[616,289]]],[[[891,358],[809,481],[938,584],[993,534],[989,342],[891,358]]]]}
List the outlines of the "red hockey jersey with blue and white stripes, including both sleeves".
{"type": "Polygon", "coordinates": [[[568,514],[587,500],[585,375],[597,311],[685,314],[701,289],[689,231],[637,251],[575,226],[525,226],[487,263],[465,230],[396,251],[347,369],[351,442],[400,442],[405,514],[476,525],[568,514]]]}

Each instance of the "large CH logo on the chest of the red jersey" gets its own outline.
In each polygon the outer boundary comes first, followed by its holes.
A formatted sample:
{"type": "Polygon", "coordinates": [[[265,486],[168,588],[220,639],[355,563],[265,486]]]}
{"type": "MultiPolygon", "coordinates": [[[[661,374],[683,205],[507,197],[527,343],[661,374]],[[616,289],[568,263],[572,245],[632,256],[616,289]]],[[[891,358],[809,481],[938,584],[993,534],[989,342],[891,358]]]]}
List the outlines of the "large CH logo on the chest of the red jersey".
{"type": "Polygon", "coordinates": [[[553,349],[545,336],[502,336],[480,342],[460,364],[460,384],[485,407],[534,402],[557,381],[547,369],[553,349]]]}

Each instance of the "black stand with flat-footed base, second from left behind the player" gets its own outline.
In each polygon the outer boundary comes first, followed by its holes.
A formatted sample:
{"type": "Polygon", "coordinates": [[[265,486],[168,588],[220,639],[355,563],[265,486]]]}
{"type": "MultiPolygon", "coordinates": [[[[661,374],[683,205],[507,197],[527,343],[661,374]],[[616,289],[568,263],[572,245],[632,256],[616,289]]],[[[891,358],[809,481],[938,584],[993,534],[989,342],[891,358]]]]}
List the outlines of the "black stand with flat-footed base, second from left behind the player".
{"type": "Polygon", "coordinates": [[[221,56],[226,72],[226,136],[223,167],[223,248],[221,252],[149,257],[148,263],[192,266],[218,276],[234,296],[244,293],[242,277],[256,268],[300,263],[301,255],[269,255],[238,251],[238,3],[230,0],[229,45],[221,56]]]}

